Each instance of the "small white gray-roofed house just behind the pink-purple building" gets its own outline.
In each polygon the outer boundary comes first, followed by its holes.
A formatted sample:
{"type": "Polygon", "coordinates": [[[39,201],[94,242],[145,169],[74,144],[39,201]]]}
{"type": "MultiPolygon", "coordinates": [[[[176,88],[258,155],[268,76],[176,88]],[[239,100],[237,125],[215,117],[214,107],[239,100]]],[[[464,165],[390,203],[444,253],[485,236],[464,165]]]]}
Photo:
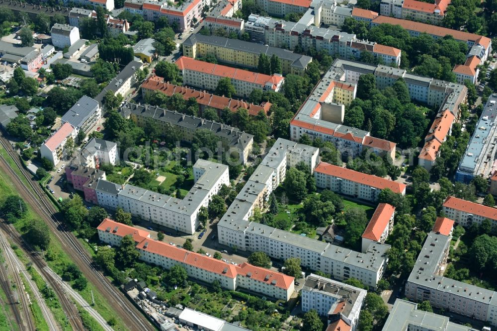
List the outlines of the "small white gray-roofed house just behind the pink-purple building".
{"type": "Polygon", "coordinates": [[[117,144],[98,138],[91,138],[80,151],[79,161],[90,168],[99,168],[101,164],[116,165],[119,162],[117,144]]]}

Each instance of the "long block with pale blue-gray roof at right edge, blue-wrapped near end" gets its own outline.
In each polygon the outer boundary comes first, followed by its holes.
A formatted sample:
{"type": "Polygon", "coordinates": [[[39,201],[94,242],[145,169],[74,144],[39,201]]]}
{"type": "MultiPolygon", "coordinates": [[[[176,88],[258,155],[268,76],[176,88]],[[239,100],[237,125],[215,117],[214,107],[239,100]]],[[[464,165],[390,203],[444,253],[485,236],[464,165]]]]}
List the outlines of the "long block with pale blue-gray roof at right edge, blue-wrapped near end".
{"type": "Polygon", "coordinates": [[[496,170],[497,94],[492,94],[476,124],[475,132],[456,170],[456,180],[469,183],[475,176],[490,177],[496,170]]]}

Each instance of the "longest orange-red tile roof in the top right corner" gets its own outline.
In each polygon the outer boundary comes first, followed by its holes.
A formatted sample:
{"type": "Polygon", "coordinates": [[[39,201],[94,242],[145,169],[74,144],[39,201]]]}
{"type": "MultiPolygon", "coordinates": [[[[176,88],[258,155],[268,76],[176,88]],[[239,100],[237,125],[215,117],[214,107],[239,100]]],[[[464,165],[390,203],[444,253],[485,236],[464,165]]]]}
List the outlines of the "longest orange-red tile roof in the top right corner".
{"type": "Polygon", "coordinates": [[[400,25],[407,30],[416,31],[416,32],[426,32],[428,34],[438,36],[438,37],[445,37],[446,35],[451,35],[457,40],[472,41],[475,43],[478,42],[482,46],[487,45],[486,49],[488,49],[488,45],[490,45],[490,42],[491,42],[490,38],[482,37],[482,36],[474,34],[474,33],[452,30],[452,29],[441,27],[441,26],[435,26],[435,25],[431,25],[431,24],[414,22],[414,21],[409,21],[406,19],[400,19],[400,18],[395,18],[395,17],[390,17],[390,16],[381,16],[380,15],[380,16],[376,17],[375,19],[373,19],[373,23],[375,23],[375,24],[388,23],[388,24],[393,24],[393,25],[400,25]]]}

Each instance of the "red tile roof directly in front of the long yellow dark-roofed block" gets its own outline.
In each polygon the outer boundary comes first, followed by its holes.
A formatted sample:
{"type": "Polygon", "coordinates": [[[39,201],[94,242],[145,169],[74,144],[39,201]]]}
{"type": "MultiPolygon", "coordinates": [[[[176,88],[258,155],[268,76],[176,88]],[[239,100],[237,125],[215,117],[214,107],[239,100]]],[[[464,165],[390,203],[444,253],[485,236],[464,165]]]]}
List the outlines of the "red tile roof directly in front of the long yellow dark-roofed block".
{"type": "Polygon", "coordinates": [[[207,63],[186,56],[177,59],[175,64],[179,70],[190,70],[219,77],[229,77],[234,80],[254,83],[261,86],[264,86],[266,83],[271,83],[273,89],[284,80],[282,76],[258,74],[248,70],[207,63]]]}

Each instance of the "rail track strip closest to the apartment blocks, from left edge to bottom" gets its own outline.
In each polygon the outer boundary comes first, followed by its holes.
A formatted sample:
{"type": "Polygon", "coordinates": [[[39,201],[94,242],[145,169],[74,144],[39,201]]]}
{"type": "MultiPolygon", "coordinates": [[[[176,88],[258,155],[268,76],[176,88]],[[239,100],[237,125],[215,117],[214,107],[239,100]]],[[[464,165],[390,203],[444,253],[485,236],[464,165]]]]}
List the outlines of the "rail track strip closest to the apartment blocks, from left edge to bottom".
{"type": "Polygon", "coordinates": [[[130,302],[124,294],[114,287],[109,279],[97,270],[92,264],[92,258],[89,253],[81,246],[78,239],[66,229],[65,225],[56,218],[58,211],[47,201],[47,197],[38,183],[31,180],[31,174],[20,164],[17,153],[15,153],[9,142],[3,137],[0,137],[0,145],[12,157],[22,174],[27,178],[28,185],[24,184],[17,173],[0,156],[2,167],[7,167],[8,172],[13,177],[16,185],[20,186],[19,194],[25,199],[26,203],[30,204],[33,209],[46,221],[52,232],[61,241],[64,250],[73,258],[74,262],[107,302],[114,308],[118,317],[131,330],[154,331],[154,328],[146,317],[140,312],[132,302],[130,302]],[[33,193],[34,192],[34,193],[33,193]]]}

